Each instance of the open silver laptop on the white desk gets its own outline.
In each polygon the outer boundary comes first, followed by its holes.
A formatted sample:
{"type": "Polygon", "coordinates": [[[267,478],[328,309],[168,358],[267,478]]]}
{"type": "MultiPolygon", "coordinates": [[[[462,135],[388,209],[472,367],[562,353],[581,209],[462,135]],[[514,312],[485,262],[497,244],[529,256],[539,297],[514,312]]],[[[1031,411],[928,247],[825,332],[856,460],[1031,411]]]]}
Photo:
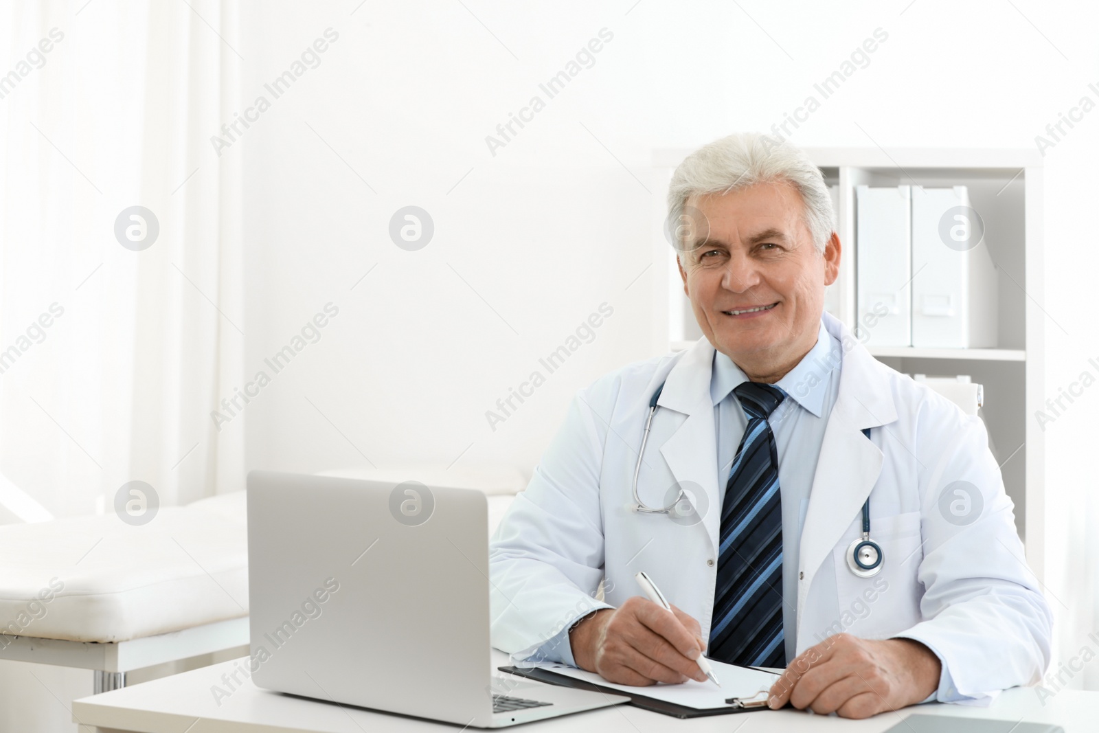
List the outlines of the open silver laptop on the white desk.
{"type": "Polygon", "coordinates": [[[268,471],[247,491],[257,687],[474,728],[629,701],[493,671],[480,491],[268,471]]]}

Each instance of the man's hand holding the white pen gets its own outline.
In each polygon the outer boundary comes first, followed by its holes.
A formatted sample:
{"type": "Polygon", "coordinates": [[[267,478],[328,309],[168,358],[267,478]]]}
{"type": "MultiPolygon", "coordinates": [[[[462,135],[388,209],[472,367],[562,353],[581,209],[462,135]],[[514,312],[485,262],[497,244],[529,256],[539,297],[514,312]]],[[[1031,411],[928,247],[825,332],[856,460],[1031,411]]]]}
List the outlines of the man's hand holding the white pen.
{"type": "Polygon", "coordinates": [[[671,611],[641,596],[596,611],[569,632],[576,665],[618,685],[704,682],[695,662],[706,648],[698,621],[675,606],[671,611]]]}

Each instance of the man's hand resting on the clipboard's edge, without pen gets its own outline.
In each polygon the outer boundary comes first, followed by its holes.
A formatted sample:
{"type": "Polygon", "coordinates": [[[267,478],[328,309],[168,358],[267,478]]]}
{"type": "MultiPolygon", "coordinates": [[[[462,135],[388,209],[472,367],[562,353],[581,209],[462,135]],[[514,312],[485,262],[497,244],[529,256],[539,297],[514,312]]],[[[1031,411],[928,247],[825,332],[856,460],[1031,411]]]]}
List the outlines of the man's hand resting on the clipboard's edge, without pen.
{"type": "Polygon", "coordinates": [[[939,657],[920,642],[835,634],[787,665],[767,704],[777,710],[789,700],[815,713],[869,718],[921,702],[939,688],[941,674],[939,657]]]}

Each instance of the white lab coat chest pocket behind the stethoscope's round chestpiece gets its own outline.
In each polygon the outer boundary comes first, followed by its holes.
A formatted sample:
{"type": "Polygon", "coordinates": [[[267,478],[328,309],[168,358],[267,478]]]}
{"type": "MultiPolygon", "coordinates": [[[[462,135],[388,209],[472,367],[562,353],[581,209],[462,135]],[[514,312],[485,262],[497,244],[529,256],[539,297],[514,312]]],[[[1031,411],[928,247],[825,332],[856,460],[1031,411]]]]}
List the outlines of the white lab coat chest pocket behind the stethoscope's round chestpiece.
{"type": "Polygon", "coordinates": [[[881,570],[874,577],[859,578],[847,565],[848,549],[856,537],[862,537],[861,532],[844,534],[833,549],[840,618],[828,633],[886,638],[919,623],[923,597],[923,585],[917,579],[923,557],[920,512],[874,518],[870,540],[882,553],[881,570]]]}

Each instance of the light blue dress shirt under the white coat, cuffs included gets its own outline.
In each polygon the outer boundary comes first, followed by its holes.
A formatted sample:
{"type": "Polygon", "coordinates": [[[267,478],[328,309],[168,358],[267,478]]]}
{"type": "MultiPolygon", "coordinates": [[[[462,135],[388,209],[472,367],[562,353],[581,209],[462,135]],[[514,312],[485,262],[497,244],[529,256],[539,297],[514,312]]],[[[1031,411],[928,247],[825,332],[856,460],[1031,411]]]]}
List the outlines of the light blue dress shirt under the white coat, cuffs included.
{"type": "MultiPolygon", "coordinates": [[[[786,658],[793,659],[797,648],[798,628],[798,557],[801,548],[801,530],[809,508],[813,475],[824,442],[828,419],[840,393],[840,369],[843,351],[840,341],[832,336],[821,322],[817,343],[798,365],[775,382],[786,392],[786,399],[775,408],[767,419],[775,435],[778,451],[778,485],[782,502],[782,631],[786,641],[786,658]]],[[[714,352],[713,369],[710,377],[710,397],[713,400],[714,429],[718,445],[719,493],[724,501],[725,485],[729,481],[736,448],[740,446],[747,426],[747,419],[733,389],[747,377],[721,352],[714,352]]],[[[563,662],[576,666],[568,632],[582,617],[565,625],[530,657],[531,662],[563,662]]],[[[899,635],[900,636],[900,635],[899,635]]],[[[932,649],[940,662],[942,655],[932,649]]],[[[939,700],[953,702],[967,700],[954,690],[953,680],[942,666],[939,689],[923,702],[939,700]]]]}

